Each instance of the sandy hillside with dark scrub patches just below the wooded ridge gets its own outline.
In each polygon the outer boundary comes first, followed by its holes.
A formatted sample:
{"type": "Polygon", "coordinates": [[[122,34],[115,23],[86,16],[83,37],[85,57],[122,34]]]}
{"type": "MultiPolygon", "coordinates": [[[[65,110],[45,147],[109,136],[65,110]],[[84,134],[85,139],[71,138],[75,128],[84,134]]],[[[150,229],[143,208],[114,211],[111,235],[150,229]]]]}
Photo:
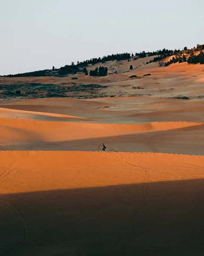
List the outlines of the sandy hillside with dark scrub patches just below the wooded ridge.
{"type": "MultiPolygon", "coordinates": [[[[174,56],[174,55],[173,55],[174,56]]],[[[173,56],[167,57],[167,60],[173,56]]],[[[99,97],[146,96],[161,98],[203,98],[203,73],[201,64],[187,62],[171,64],[164,61],[148,63],[151,56],[123,61],[107,61],[109,74],[104,77],[85,76],[83,73],[56,77],[0,77],[2,99],[71,97],[92,99],[99,97]],[[130,65],[133,69],[129,70],[130,65]],[[160,67],[161,66],[161,67],[160,67]],[[150,74],[150,76],[146,76],[150,74]],[[73,80],[72,78],[77,78],[73,80]]],[[[95,69],[101,64],[87,66],[95,69]]]]}

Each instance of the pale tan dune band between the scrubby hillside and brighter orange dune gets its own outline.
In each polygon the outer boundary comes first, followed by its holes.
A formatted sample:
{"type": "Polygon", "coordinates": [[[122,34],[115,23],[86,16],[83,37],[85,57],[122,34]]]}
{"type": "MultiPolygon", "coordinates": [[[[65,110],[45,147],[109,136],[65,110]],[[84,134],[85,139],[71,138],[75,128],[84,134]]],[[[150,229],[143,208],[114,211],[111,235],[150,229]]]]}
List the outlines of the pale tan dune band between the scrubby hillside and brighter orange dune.
{"type": "Polygon", "coordinates": [[[108,122],[108,123],[138,123],[138,122],[174,122],[204,121],[203,100],[161,99],[147,97],[115,97],[94,100],[79,99],[30,99],[25,102],[1,104],[0,116],[6,116],[8,109],[27,111],[14,113],[25,119],[47,121],[78,122],[108,122]],[[4,110],[3,108],[6,108],[4,110]],[[32,112],[31,112],[32,111],[32,112]],[[43,114],[40,114],[43,112],[43,114]],[[52,113],[49,115],[48,113],[52,113]],[[33,115],[32,115],[33,114],[33,115]],[[57,116],[60,114],[63,116],[57,116]],[[72,118],[72,119],[70,119],[72,118]],[[75,119],[74,119],[75,118],[75,119]]]}

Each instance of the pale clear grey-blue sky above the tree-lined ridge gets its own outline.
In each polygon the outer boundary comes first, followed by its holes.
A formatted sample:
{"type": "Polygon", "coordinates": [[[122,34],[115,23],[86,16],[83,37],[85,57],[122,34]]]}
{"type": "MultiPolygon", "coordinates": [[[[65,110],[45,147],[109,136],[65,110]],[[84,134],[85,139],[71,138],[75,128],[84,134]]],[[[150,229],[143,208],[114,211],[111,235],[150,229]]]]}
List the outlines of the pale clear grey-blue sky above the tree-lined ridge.
{"type": "Polygon", "coordinates": [[[0,75],[204,44],[204,0],[0,0],[0,75]]]}

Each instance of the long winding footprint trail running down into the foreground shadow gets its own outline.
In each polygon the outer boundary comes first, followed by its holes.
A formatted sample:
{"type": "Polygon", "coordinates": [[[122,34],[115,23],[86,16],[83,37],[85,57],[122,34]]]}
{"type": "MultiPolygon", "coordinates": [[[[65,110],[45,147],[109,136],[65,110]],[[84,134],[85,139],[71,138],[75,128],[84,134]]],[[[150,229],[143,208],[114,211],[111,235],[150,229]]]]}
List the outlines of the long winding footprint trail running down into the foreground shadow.
{"type": "Polygon", "coordinates": [[[145,177],[144,177],[144,180],[143,180],[143,186],[142,186],[142,193],[140,195],[140,204],[135,206],[133,211],[132,211],[132,220],[131,220],[131,228],[129,230],[129,235],[127,237],[127,239],[124,241],[123,244],[121,244],[121,252],[120,252],[120,255],[124,255],[124,250],[127,246],[127,244],[135,237],[135,236],[138,236],[138,233],[137,233],[137,230],[136,230],[136,221],[137,221],[137,214],[139,212],[139,210],[144,207],[144,204],[145,204],[145,196],[146,196],[146,189],[147,189],[147,180],[149,179],[149,172],[148,170],[144,167],[144,166],[137,166],[137,165],[134,165],[132,163],[128,163],[124,160],[124,163],[126,164],[129,164],[131,166],[134,166],[134,167],[140,167],[141,169],[143,169],[144,171],[144,174],[145,174],[145,177]]]}

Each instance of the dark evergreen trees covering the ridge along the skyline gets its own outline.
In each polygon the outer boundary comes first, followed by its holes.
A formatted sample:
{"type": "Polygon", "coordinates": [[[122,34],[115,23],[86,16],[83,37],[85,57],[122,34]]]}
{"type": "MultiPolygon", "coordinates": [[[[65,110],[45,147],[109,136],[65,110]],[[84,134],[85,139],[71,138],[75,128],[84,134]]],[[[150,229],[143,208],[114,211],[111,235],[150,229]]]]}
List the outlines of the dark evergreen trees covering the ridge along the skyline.
{"type": "MultiPolygon", "coordinates": [[[[56,69],[55,67],[52,67],[51,70],[38,70],[38,71],[33,71],[33,72],[27,72],[27,73],[19,73],[15,75],[7,75],[5,77],[23,77],[23,76],[67,76],[69,74],[76,74],[78,72],[83,72],[85,75],[88,75],[88,72],[86,70],[86,67],[90,64],[95,65],[98,63],[105,63],[106,61],[122,61],[122,60],[128,60],[130,61],[131,59],[135,60],[138,58],[145,58],[147,56],[155,56],[152,58],[148,63],[155,62],[155,61],[161,61],[164,60],[164,58],[173,56],[170,61],[167,61],[164,63],[165,66],[168,66],[172,63],[176,62],[186,62],[189,64],[204,64],[204,44],[197,44],[197,47],[193,47],[192,49],[187,49],[187,47],[184,47],[184,49],[175,49],[175,50],[168,50],[168,49],[163,49],[163,50],[157,50],[153,52],[135,52],[135,54],[130,54],[130,53],[118,53],[118,54],[112,54],[112,55],[107,55],[98,57],[98,58],[91,58],[86,61],[81,61],[77,62],[75,64],[72,62],[71,65],[65,65],[64,67],[60,67],[59,69],[56,69]],[[195,54],[196,52],[200,52],[199,54],[195,54]],[[188,55],[188,58],[186,57],[188,55]]],[[[91,70],[89,73],[90,76],[106,76],[107,75],[107,68],[106,67],[99,67],[95,68],[95,70],[91,70]]]]}

